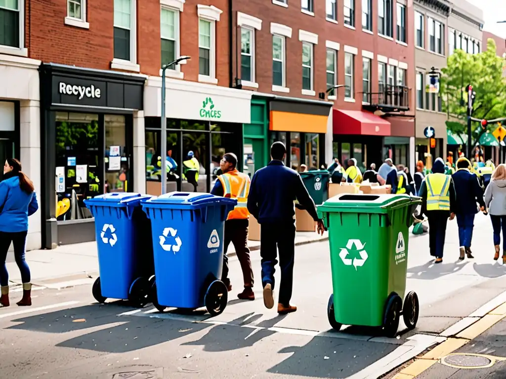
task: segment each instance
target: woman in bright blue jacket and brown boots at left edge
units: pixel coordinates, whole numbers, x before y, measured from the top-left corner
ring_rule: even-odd
[[[9,304],[9,273],[5,261],[7,251],[14,245],[14,257],[21,271],[23,298],[19,306],[31,305],[30,269],[25,261],[28,216],[38,209],[31,180],[21,171],[21,163],[8,158],[4,165],[4,179],[0,182],[0,307]]]

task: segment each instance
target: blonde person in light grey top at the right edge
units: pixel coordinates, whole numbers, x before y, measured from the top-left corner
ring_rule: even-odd
[[[502,230],[502,263],[506,264],[506,166],[498,165],[485,189],[485,207],[494,230],[494,260],[499,259]]]

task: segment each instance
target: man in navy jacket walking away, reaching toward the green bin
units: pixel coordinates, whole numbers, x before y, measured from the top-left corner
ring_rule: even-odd
[[[293,258],[295,252],[295,206],[298,200],[302,208],[318,222],[318,232],[323,234],[323,222],[318,219],[316,206],[295,170],[283,164],[286,148],[283,143],[271,146],[272,161],[261,168],[251,179],[247,208],[261,225],[262,286],[264,304],[274,307],[274,266],[279,250],[281,283],[279,285],[278,313],[295,312],[290,305],[293,284]]]

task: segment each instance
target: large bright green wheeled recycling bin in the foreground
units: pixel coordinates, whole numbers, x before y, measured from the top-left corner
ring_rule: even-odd
[[[408,229],[421,203],[408,195],[341,194],[318,206],[328,229],[333,293],[330,325],[381,327],[395,337],[400,316],[418,321],[418,297],[406,290]]]

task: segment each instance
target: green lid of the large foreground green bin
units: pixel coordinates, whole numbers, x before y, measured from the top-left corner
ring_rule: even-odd
[[[347,212],[347,213],[387,213],[394,208],[420,203],[421,198],[410,197],[409,195],[387,195],[387,194],[340,194],[328,199],[319,205],[320,212]]]

